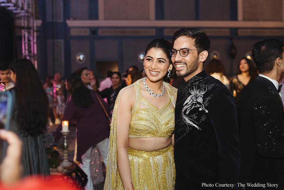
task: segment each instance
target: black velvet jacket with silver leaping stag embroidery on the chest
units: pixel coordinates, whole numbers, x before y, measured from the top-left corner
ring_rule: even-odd
[[[213,189],[218,189],[215,183],[237,185],[240,146],[233,95],[205,70],[178,90],[174,154],[175,189],[204,189],[202,183],[214,184]]]

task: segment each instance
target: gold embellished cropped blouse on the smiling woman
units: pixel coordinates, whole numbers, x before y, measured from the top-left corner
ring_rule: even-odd
[[[171,103],[175,106],[173,93],[175,89],[164,82],[169,92],[169,100],[161,109],[150,104],[141,95],[139,83],[134,86],[136,92],[136,102],[131,110],[131,120],[129,127],[129,138],[164,137],[171,138],[175,129],[175,109],[171,109]],[[174,92],[172,92],[172,89]],[[139,108],[140,103],[147,108]]]

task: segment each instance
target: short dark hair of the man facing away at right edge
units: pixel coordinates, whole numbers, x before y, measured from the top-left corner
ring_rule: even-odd
[[[283,59],[284,42],[280,39],[264,39],[256,42],[252,49],[252,58],[260,73],[269,73],[277,58]]]

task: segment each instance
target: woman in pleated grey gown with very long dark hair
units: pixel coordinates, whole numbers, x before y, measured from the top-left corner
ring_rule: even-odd
[[[48,98],[38,72],[28,59],[18,59],[10,65],[15,87],[10,130],[23,141],[21,164],[23,176],[50,174],[42,139],[48,118]]]

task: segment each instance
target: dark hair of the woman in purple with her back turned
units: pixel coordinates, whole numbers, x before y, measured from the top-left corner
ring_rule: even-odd
[[[81,77],[77,74],[67,76],[68,93],[72,95],[77,106],[87,108],[91,106],[93,99],[91,91],[84,85]]]

